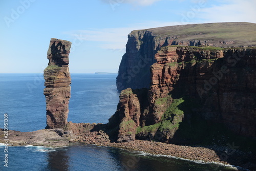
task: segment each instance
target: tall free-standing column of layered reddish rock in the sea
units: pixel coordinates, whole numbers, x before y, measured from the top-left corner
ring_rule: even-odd
[[[64,128],[68,123],[70,99],[69,53],[71,42],[51,38],[44,71],[46,96],[46,129]]]

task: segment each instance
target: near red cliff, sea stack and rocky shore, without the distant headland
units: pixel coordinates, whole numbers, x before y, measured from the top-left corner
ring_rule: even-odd
[[[67,121],[70,48],[69,41],[50,41],[44,72],[46,129],[9,130],[7,142],[0,129],[0,143],[63,147],[79,142],[256,170],[255,48],[161,48],[155,55],[157,62],[151,66],[150,89],[123,90],[117,111],[107,124]],[[230,66],[230,60],[234,66]],[[218,80],[216,73],[221,75]],[[215,83],[206,91],[204,82],[213,79]],[[244,137],[238,139],[238,135]],[[220,137],[231,137],[224,138],[225,143],[236,140],[243,149],[234,143],[221,146],[219,141],[213,142]]]

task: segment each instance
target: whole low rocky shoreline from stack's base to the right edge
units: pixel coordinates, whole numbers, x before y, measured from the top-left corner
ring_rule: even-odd
[[[9,146],[35,145],[46,147],[68,146],[69,143],[82,142],[100,146],[110,146],[126,149],[127,151],[146,152],[153,155],[166,155],[202,162],[231,164],[249,170],[256,170],[256,157],[250,153],[239,151],[232,146],[190,146],[175,145],[157,141],[135,140],[130,142],[111,142],[104,130],[104,124],[72,123],[69,127],[75,130],[62,129],[38,130],[35,132],[9,131]],[[83,130],[83,132],[80,132]],[[4,131],[0,131],[0,143]],[[238,167],[238,168],[239,168]]]

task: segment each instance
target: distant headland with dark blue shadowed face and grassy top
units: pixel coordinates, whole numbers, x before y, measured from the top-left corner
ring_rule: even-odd
[[[251,36],[255,33],[256,24],[252,23],[194,24],[132,31],[119,66],[117,89],[149,88],[150,67],[156,62],[155,54],[161,47],[251,47],[256,46],[256,38]]]

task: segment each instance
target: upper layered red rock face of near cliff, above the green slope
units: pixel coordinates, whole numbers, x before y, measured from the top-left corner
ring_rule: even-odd
[[[193,109],[203,119],[256,137],[256,49],[166,47],[156,59],[148,95],[152,104],[170,94],[193,99],[200,104]]]

